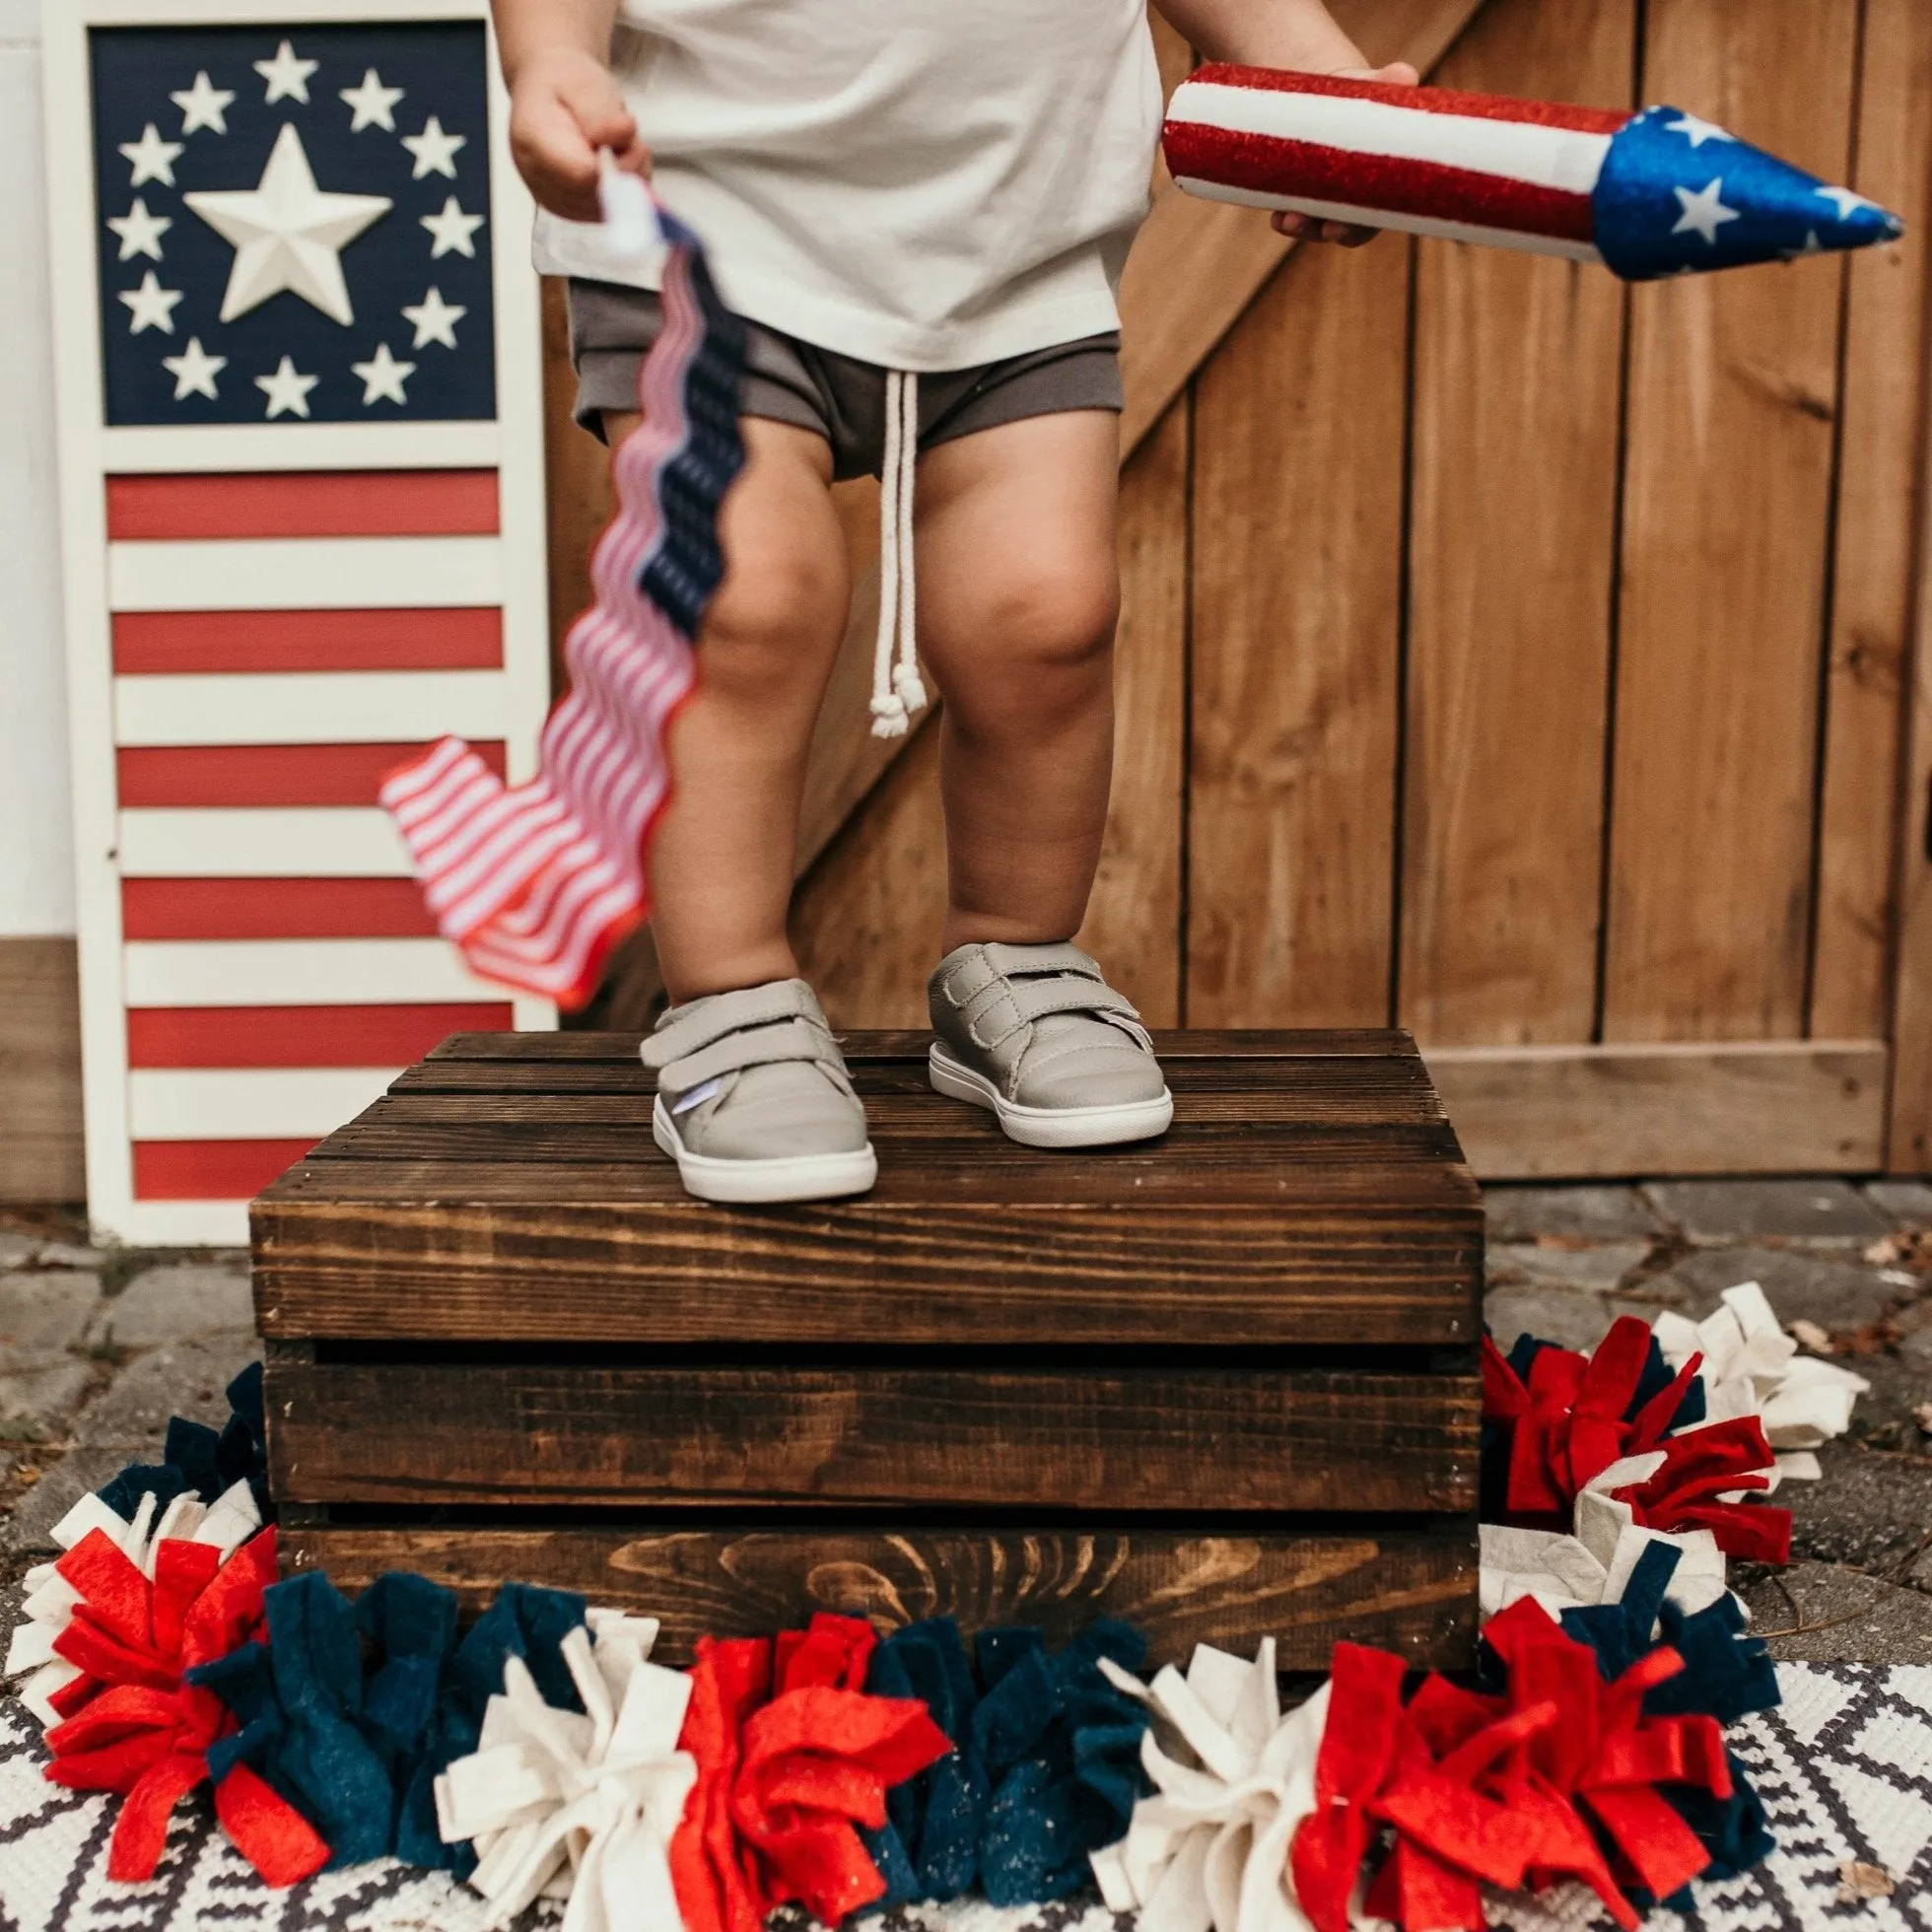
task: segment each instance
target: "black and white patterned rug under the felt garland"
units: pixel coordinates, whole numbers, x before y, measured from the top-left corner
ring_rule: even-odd
[[[1646,1932],[1932,1932],[1932,1667],[1781,1663],[1777,1677],[1783,1706],[1731,1731],[1777,1851],[1743,1878],[1698,1886],[1696,1911],[1654,1913]],[[151,1882],[108,1884],[112,1801],[50,1785],[44,1762],[33,1718],[0,1704],[0,1932],[483,1932],[483,1905],[464,1886],[392,1862],[269,1891],[207,1806],[180,1808]],[[1609,1928],[1575,1886],[1538,1901],[1497,1895],[1490,1913],[1509,1932]],[[790,1932],[804,1924],[788,1918]],[[1080,1899],[1012,1911],[970,1901],[864,1928],[1132,1932],[1132,1918]]]

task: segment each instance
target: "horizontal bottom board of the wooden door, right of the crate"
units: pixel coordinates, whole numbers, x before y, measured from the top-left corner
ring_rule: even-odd
[[[1422,1051],[1484,1180],[1884,1165],[1882,1039]]]

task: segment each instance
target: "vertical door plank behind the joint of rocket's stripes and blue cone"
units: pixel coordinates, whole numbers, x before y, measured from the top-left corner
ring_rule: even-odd
[[[1634,0],[1497,0],[1445,87],[1629,104]],[[1623,290],[1416,265],[1399,1012],[1434,1043],[1596,1024]]]

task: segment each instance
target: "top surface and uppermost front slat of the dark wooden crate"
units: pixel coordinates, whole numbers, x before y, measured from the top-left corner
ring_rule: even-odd
[[[649,1142],[641,1066],[597,1057],[609,1036],[439,1055],[257,1200],[261,1327],[605,1343],[1474,1339],[1482,1208],[1406,1036],[1318,1036],[1310,1053],[1281,1037],[1271,1055],[1163,1039],[1177,1049],[1173,1130],[1041,1161],[935,1097],[906,1036],[856,1036],[877,1188],[765,1209],[682,1194]],[[466,1078],[466,1065],[483,1072]],[[585,1068],[597,1092],[576,1090]]]

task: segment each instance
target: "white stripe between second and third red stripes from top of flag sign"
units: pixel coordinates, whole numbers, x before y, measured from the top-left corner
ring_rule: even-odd
[[[500,670],[247,670],[114,680],[116,744],[425,744],[502,738]]]

